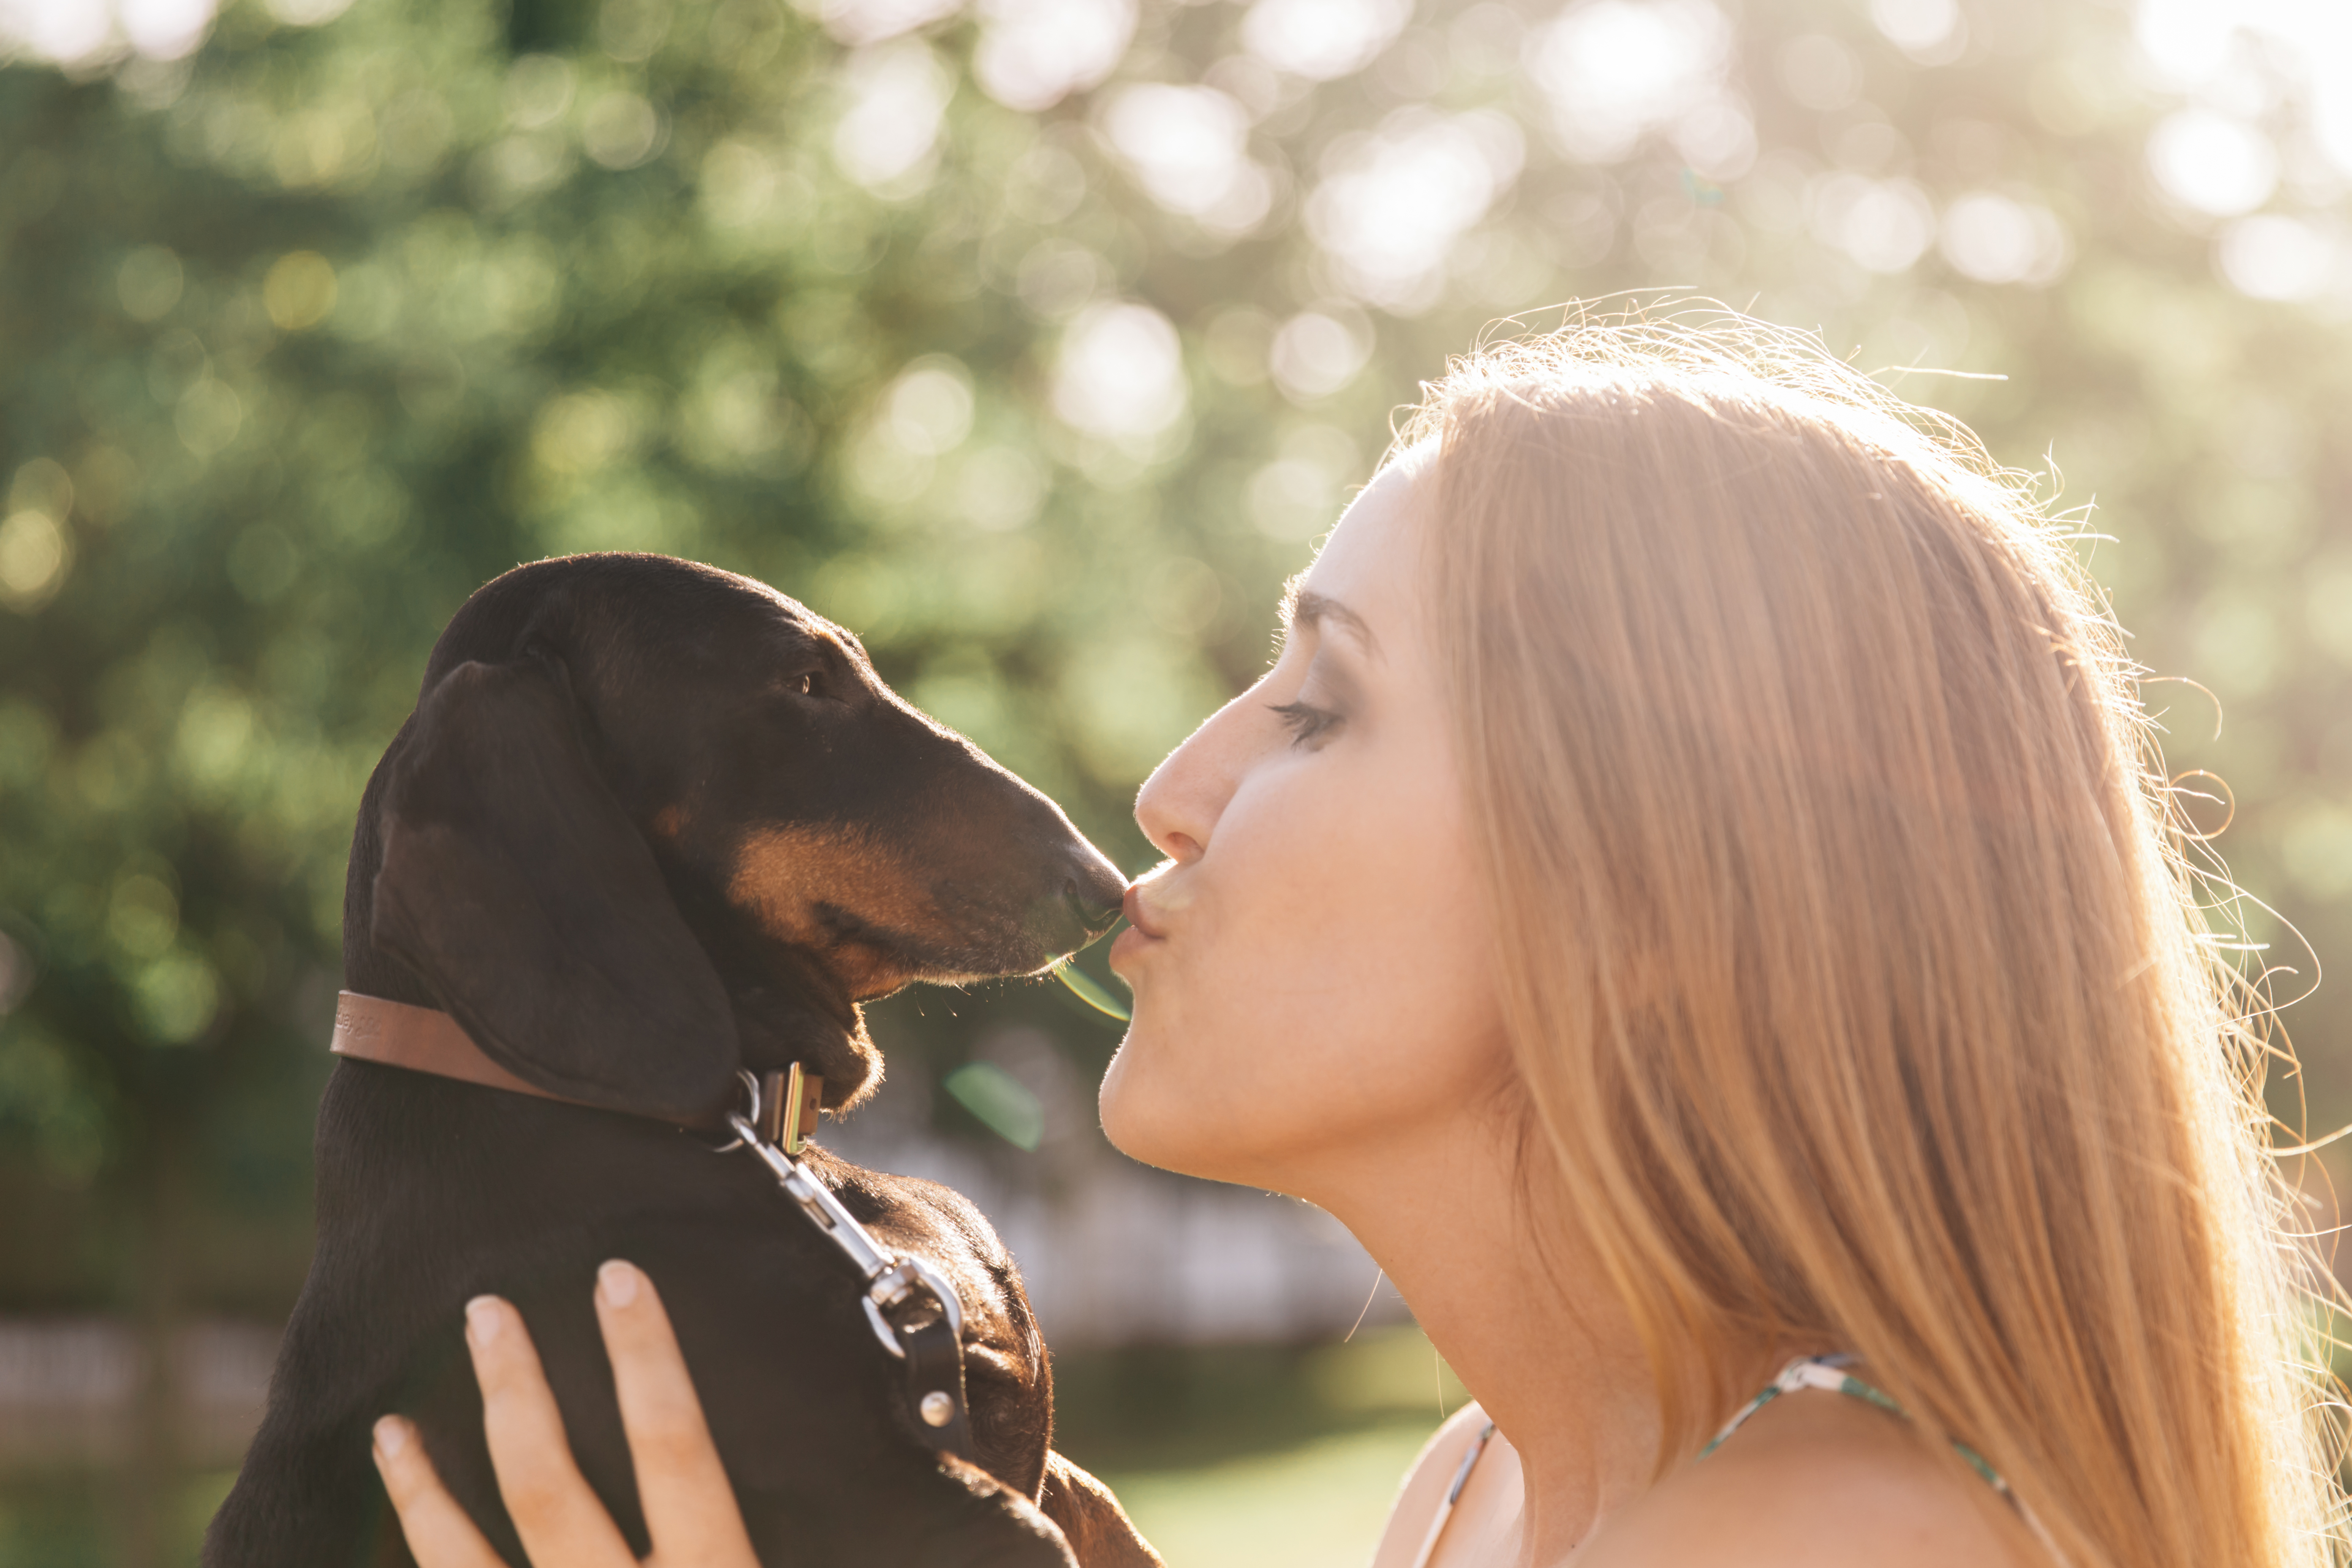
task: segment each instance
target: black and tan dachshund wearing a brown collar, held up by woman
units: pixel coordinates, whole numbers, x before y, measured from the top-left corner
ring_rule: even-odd
[[[207,1568],[412,1563],[369,1462],[393,1410],[520,1568],[463,1347],[480,1293],[527,1316],[579,1467],[644,1554],[590,1307],[604,1258],[659,1284],[769,1568],[1157,1563],[1049,1450],[1047,1352],[971,1204],[804,1154],[955,1286],[967,1465],[920,1441],[856,1269],[694,1131],[739,1072],[788,1063],[856,1105],[882,1065],[861,1001],[1037,971],[1101,936],[1122,889],[1049,799],[762,583],[581,555],[485,585],[360,802],[343,985],[452,1016],[541,1093],[336,1065],[318,1255]]]

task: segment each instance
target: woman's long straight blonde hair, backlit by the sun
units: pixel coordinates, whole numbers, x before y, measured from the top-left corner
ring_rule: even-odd
[[[1531,1171],[1661,1469],[1837,1347],[2074,1568],[2333,1561],[2265,1041],[2065,527],[1731,313],[1482,348],[1430,442]]]

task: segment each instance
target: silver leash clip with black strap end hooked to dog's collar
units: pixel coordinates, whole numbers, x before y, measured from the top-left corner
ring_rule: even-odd
[[[776,1098],[774,1088],[762,1095],[760,1081],[748,1072],[743,1084],[750,1088],[750,1114],[727,1114],[727,1126],[736,1135],[736,1143],[727,1147],[746,1147],[757,1154],[783,1194],[800,1206],[800,1213],[858,1269],[866,1281],[861,1298],[866,1319],[873,1324],[875,1338],[882,1340],[882,1349],[906,1363],[906,1408],[915,1436],[929,1448],[976,1465],[969,1406],[964,1403],[964,1307],[955,1298],[955,1286],[922,1258],[894,1253],[875,1241],[873,1232],[858,1225],[856,1215],[842,1208],[842,1201],[804,1164],[793,1159],[800,1138],[762,1138],[762,1128],[769,1124],[776,1124],[779,1131],[797,1126],[800,1107],[795,1105],[783,1119],[762,1117],[760,1103]],[[720,1152],[724,1154],[724,1150]]]

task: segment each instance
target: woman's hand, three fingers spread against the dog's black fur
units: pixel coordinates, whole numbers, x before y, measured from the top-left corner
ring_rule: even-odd
[[[621,1394],[644,1528],[654,1537],[644,1561],[656,1568],[760,1568],[654,1281],[628,1262],[607,1262],[597,1269],[595,1314]],[[522,1314],[496,1295],[475,1298],[466,1305],[466,1347],[482,1385],[482,1429],[499,1495],[529,1559],[635,1568],[628,1540],[572,1462]],[[376,1422],[376,1469],[419,1568],[501,1568],[482,1530],[442,1488],[414,1425],[397,1415]]]

